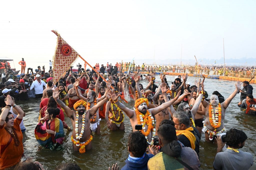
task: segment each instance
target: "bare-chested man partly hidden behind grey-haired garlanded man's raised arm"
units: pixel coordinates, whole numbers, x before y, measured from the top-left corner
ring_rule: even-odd
[[[196,89],[192,90],[192,95],[193,95],[193,98],[190,99],[190,102],[188,104],[189,107],[190,107],[190,110],[192,110],[192,108],[194,107],[196,99],[197,99],[197,90]],[[200,103],[199,107],[198,107],[198,110],[196,112],[196,115],[195,115],[196,129],[199,131],[200,134],[202,133],[202,128],[203,128],[203,125],[204,125],[203,124],[204,117],[205,117],[205,108],[202,105],[202,103]]]

